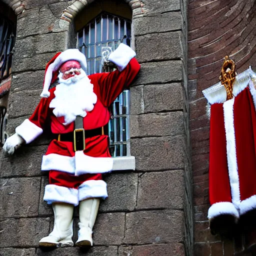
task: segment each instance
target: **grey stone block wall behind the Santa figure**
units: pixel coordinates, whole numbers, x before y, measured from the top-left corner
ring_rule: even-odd
[[[75,31],[69,21],[79,12],[73,9],[88,2],[91,1],[22,1],[24,11],[17,19],[9,97],[9,133],[38,103],[46,62],[56,51],[75,46]],[[109,198],[100,204],[94,246],[86,255],[191,255],[190,151],[183,53],[186,2],[126,2],[133,11],[133,45],[141,63],[141,71],[130,88],[131,154],[136,157],[136,170],[104,176]],[[60,19],[69,5],[72,7]],[[47,176],[40,172],[41,155],[48,141],[44,136],[13,156],[1,155],[0,255],[44,254],[37,247],[38,240],[53,225],[51,207],[42,200]],[[77,213],[75,216],[76,233]],[[58,248],[47,255],[83,253],[74,247]]]

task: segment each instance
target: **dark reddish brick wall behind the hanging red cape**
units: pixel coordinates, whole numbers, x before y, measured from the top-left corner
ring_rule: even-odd
[[[210,234],[207,220],[209,120],[201,90],[218,82],[223,57],[229,54],[238,72],[256,68],[254,0],[188,2],[188,88],[192,147],[194,254],[233,255],[243,252],[248,234],[231,239]],[[254,236],[256,237],[256,236]],[[248,254],[250,255],[250,254]]]

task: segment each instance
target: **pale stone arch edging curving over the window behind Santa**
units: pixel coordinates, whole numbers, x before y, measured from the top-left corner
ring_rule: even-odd
[[[69,5],[62,13],[61,19],[64,19],[68,22],[72,22],[75,16],[88,4],[92,3],[94,0],[76,0],[74,3]],[[142,0],[124,0],[129,4],[132,9],[133,16],[141,15],[146,12],[144,3]]]

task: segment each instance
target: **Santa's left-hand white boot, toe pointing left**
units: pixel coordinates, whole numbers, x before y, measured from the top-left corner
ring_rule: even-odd
[[[73,208],[69,203],[53,203],[54,227],[52,232],[39,241],[39,246],[73,246]]]

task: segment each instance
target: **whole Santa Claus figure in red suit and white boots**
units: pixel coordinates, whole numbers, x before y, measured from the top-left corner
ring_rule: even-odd
[[[73,208],[79,204],[78,246],[92,245],[92,227],[99,199],[107,197],[102,173],[111,171],[108,107],[139,71],[135,52],[121,43],[110,55],[118,70],[86,75],[86,58],[78,49],[57,53],[46,65],[42,99],[33,114],[16,127],[4,143],[11,154],[39,136],[46,122],[55,134],[41,170],[49,171],[43,199],[52,204],[54,227],[40,246],[72,246]],[[49,86],[58,78],[58,84]]]

